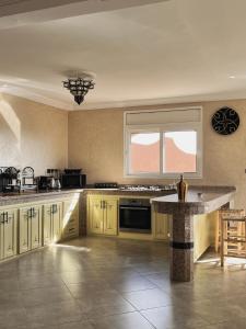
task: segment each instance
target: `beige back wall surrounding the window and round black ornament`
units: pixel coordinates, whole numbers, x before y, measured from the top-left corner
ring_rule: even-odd
[[[201,102],[203,106],[203,179],[189,183],[235,185],[236,206],[246,207],[246,101]],[[238,131],[220,136],[211,128],[211,116],[221,106],[234,107],[241,116]],[[139,107],[139,109],[150,109]],[[125,109],[129,110],[129,109]],[[83,168],[89,183],[165,183],[164,180],[124,179],[124,111],[98,110],[69,113],[69,166]],[[136,110],[136,109],[132,109]]]

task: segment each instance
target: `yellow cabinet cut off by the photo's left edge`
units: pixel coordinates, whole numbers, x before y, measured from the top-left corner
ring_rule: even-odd
[[[16,254],[17,209],[0,211],[0,259]]]

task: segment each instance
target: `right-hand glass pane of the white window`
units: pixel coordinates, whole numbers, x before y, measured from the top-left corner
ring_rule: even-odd
[[[163,135],[163,171],[197,171],[197,133],[171,132]]]

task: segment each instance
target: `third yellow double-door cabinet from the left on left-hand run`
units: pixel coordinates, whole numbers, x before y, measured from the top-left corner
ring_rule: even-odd
[[[44,205],[44,245],[57,242],[61,239],[61,202]]]

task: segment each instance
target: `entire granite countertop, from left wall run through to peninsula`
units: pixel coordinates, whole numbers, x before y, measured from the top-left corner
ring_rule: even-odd
[[[83,194],[106,194],[106,195],[129,195],[129,196],[149,196],[151,202],[159,208],[165,208],[167,213],[173,213],[174,208],[189,211],[191,213],[208,213],[211,208],[218,208],[220,203],[232,197],[236,191],[233,186],[189,186],[186,202],[179,202],[175,190],[161,191],[136,191],[121,189],[69,189],[59,191],[26,191],[22,193],[1,193],[0,206],[17,204],[25,202],[35,202],[37,200],[58,198],[71,196],[74,193]]]

